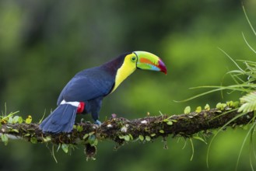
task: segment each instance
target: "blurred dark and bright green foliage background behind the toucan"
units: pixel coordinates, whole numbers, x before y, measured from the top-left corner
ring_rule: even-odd
[[[256,2],[244,0],[244,7],[256,28]],[[0,1],[0,112],[19,110],[37,122],[56,106],[58,94],[76,72],[101,65],[127,51],[149,51],[167,65],[168,74],[137,71],[103,100],[100,120],[117,117],[135,119],[160,113],[183,113],[184,107],[216,106],[238,100],[240,93],[212,93],[185,103],[206,89],[195,86],[233,84],[226,72],[236,66],[233,59],[255,61],[256,40],[241,1]],[[240,66],[244,66],[241,62]],[[226,75],[226,76],[225,76]],[[224,79],[223,79],[224,78]],[[90,116],[82,116],[91,120]],[[82,117],[78,117],[79,121]],[[167,138],[153,143],[129,143],[114,151],[114,143],[102,141],[95,161],[86,162],[83,147],[67,155],[51,145],[26,141],[0,144],[0,170],[234,170],[247,134],[240,128],[221,132],[209,145]],[[209,138],[210,141],[210,138]],[[56,147],[55,147],[56,150]],[[251,169],[249,141],[245,142],[237,170]]]

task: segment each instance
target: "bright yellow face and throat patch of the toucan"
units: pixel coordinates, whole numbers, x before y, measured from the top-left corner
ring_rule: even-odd
[[[134,58],[135,58],[135,61],[132,60]],[[135,56],[135,54],[128,54],[124,58],[124,63],[117,70],[114,88],[112,89],[112,91],[110,93],[114,92],[114,90],[117,89],[117,87],[121,84],[121,82],[123,82],[124,79],[126,79],[129,75],[131,75],[132,72],[135,72],[136,62],[137,62],[137,57]]]

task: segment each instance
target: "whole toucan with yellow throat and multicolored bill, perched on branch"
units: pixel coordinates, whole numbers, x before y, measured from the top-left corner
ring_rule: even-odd
[[[82,70],[62,89],[57,108],[42,121],[40,130],[56,134],[71,132],[76,113],[91,113],[95,124],[100,125],[103,98],[114,92],[136,68],[167,74],[163,61],[146,51],[124,53],[103,65]]]

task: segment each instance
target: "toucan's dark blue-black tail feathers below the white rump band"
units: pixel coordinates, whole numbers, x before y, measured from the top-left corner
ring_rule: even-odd
[[[43,132],[71,132],[75,124],[76,111],[77,106],[61,104],[43,120],[39,128]]]

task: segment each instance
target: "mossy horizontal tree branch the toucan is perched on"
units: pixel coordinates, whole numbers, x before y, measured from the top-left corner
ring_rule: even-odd
[[[43,133],[38,128],[38,124],[4,124],[0,129],[2,141],[5,138],[22,138],[33,143],[45,142],[56,145],[86,145],[86,154],[96,153],[98,140],[110,139],[118,145],[125,141],[139,139],[140,141],[151,141],[159,137],[167,137],[172,134],[189,138],[200,131],[241,124],[250,124],[254,118],[254,113],[242,114],[237,109],[229,106],[222,110],[214,108],[202,110],[201,112],[191,112],[179,115],[161,115],[156,117],[144,117],[135,120],[125,118],[110,118],[99,126],[90,123],[75,124],[71,133],[50,134]],[[5,135],[3,137],[3,135]],[[91,152],[92,151],[92,152]],[[93,156],[92,155],[92,156]]]

